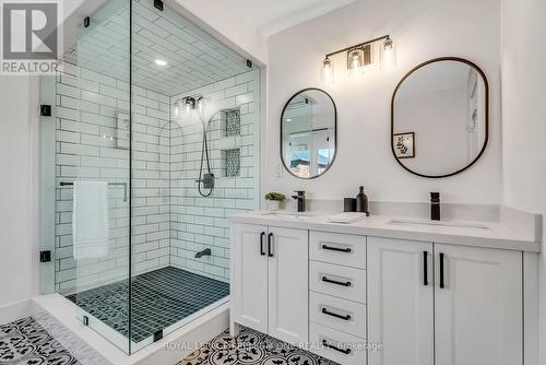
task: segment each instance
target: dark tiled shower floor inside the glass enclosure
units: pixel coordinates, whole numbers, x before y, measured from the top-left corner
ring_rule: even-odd
[[[131,339],[140,342],[228,296],[229,284],[168,267],[134,276],[131,291]],[[68,298],[128,337],[128,281],[120,281]]]

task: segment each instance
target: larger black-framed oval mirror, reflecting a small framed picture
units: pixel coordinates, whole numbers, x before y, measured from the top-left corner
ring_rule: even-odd
[[[489,86],[473,62],[442,57],[400,81],[391,102],[391,149],[412,174],[440,178],[471,167],[489,138]]]

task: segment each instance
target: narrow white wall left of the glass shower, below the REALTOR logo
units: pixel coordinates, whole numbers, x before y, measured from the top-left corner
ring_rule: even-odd
[[[0,306],[37,292],[35,80],[0,76]]]

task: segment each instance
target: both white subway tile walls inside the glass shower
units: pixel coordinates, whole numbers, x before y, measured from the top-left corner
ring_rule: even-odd
[[[257,160],[259,71],[177,96],[133,86],[132,263],[133,274],[174,266],[210,278],[229,280],[229,232],[226,217],[258,208]],[[75,263],[72,256],[72,187],[75,179],[129,181],[129,150],[118,119],[128,118],[129,84],[67,64],[57,76],[56,138],[56,289],[60,293],[127,279],[129,203],[123,188],[109,188],[110,240],[104,259]],[[198,195],[202,127],[170,122],[174,103],[202,95],[217,111],[207,137],[216,188]],[[240,136],[226,137],[219,110],[239,108]],[[124,144],[127,148],[127,144]],[[226,177],[225,151],[240,150],[239,176]],[[212,256],[195,259],[211,248]]]

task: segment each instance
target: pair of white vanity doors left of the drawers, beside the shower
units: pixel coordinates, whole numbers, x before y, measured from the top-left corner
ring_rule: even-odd
[[[308,341],[308,231],[233,225],[233,320],[288,343]]]

